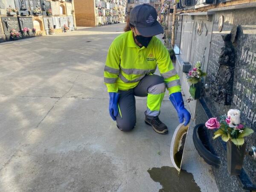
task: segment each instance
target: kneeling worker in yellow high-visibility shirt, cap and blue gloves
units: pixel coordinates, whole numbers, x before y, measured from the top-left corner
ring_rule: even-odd
[[[131,131],[136,124],[135,97],[147,96],[145,123],[159,134],[168,133],[158,115],[165,90],[178,113],[180,123],[190,121],[180,93],[180,80],[169,52],[155,37],[163,33],[153,6],[141,4],[131,10],[125,33],[109,47],[104,69],[104,83],[109,92],[109,112],[121,131]],[[161,76],[154,75],[156,67]]]

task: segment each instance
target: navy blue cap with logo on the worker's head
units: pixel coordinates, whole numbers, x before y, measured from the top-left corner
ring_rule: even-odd
[[[157,21],[157,11],[149,4],[143,3],[135,6],[130,12],[130,23],[144,37],[163,33],[163,27]]]

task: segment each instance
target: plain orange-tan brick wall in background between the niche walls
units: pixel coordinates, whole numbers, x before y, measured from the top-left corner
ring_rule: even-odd
[[[95,26],[94,0],[74,0],[76,26]]]

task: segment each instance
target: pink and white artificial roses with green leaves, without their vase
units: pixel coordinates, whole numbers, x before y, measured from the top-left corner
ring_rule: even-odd
[[[224,142],[230,141],[236,146],[243,145],[244,137],[253,133],[252,129],[240,123],[240,111],[236,109],[230,109],[227,115],[220,117],[220,121],[217,118],[210,118],[205,126],[217,130],[213,139],[221,137]]]

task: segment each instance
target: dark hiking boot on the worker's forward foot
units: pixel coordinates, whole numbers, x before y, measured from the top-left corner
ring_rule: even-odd
[[[145,117],[145,123],[147,125],[151,125],[154,131],[156,131],[159,134],[167,134],[168,129],[167,126],[160,121],[158,116],[148,116]]]

